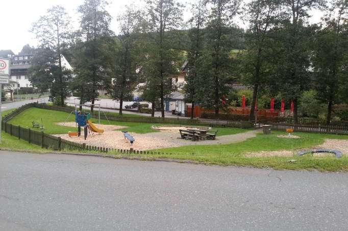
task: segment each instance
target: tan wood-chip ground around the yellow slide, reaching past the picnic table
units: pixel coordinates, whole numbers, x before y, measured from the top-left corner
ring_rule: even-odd
[[[59,125],[62,125],[59,124]],[[243,142],[248,138],[255,137],[257,131],[248,131],[245,133],[235,134],[235,135],[227,135],[227,136],[219,136],[216,137],[215,140],[200,140],[200,141],[191,141],[184,140],[180,138],[179,131],[159,131],[153,133],[146,134],[137,134],[129,132],[135,139],[133,145],[126,140],[121,131],[114,131],[116,129],[122,129],[126,127],[124,126],[114,126],[114,125],[102,125],[95,124],[98,128],[104,129],[104,133],[96,134],[90,133],[86,140],[84,140],[83,136],[71,136],[69,137],[67,134],[55,135],[59,136],[62,139],[77,142],[77,143],[86,143],[86,145],[91,146],[100,146],[100,147],[110,147],[116,149],[129,149],[133,148],[134,150],[150,150],[150,149],[158,149],[165,147],[180,147],[185,145],[209,145],[209,144],[229,144],[229,143],[237,143]],[[65,123],[65,126],[76,126],[74,122]]]

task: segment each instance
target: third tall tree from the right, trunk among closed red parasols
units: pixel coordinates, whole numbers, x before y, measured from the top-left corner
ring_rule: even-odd
[[[272,33],[278,29],[283,14],[280,0],[254,0],[246,5],[244,12],[250,25],[245,34],[242,71],[246,82],[253,86],[249,115],[249,120],[253,120],[259,87],[265,87],[264,79],[270,74],[270,49],[274,45]]]

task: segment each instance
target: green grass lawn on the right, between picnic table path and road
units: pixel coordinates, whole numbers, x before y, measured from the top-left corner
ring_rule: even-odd
[[[348,171],[348,157],[336,159],[333,156],[316,158],[311,155],[296,156],[296,150],[322,144],[325,139],[348,139],[348,136],[296,133],[300,139],[279,138],[285,132],[272,132],[272,135],[258,134],[255,138],[241,143],[223,145],[194,145],[163,148],[154,151],[172,153],[162,158],[193,160],[207,164],[272,167],[275,169],[318,169]],[[245,153],[259,151],[292,150],[293,157],[245,157]],[[297,162],[289,163],[290,159]]]

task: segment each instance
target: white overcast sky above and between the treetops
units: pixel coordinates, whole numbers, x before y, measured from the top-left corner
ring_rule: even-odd
[[[0,0],[1,7],[1,36],[0,50],[12,49],[17,54],[25,44],[36,46],[37,42],[34,35],[29,32],[31,24],[37,21],[40,15],[44,15],[46,10],[54,5],[62,5],[71,16],[73,24],[78,26],[79,14],[77,8],[83,3],[83,0]],[[135,6],[142,6],[141,0],[109,0],[108,11],[113,17],[112,30],[117,33],[118,27],[115,18],[122,12],[125,5],[134,3]],[[194,0],[180,0],[181,3],[194,2]],[[184,18],[189,18],[188,12],[183,12]],[[312,12],[312,22],[318,22],[322,13]],[[239,21],[241,27],[245,27]]]

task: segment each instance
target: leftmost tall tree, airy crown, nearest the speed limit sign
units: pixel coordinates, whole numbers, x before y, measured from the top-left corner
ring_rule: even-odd
[[[65,106],[64,98],[67,95],[67,83],[64,76],[64,67],[62,66],[61,50],[66,46],[67,39],[70,33],[70,17],[61,6],[54,6],[47,10],[47,14],[41,16],[40,19],[33,23],[31,32],[36,35],[40,42],[41,52],[37,54],[38,60],[35,63],[36,69],[45,67],[42,58],[47,59],[49,74],[55,80],[53,83],[47,83],[51,86],[51,99],[54,100],[60,97],[59,104]],[[40,57],[42,56],[42,57]],[[39,67],[38,65],[42,65]],[[33,76],[35,81],[36,76]],[[51,78],[50,78],[51,79]],[[42,81],[51,81],[50,79],[42,79]]]

